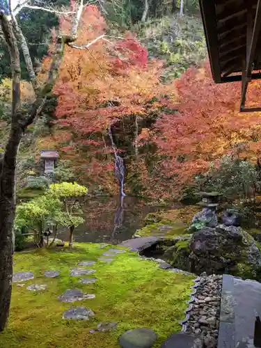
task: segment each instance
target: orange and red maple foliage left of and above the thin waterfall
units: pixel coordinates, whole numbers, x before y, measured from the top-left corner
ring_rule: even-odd
[[[104,35],[106,24],[96,6],[83,13],[76,45],[86,45]],[[61,30],[69,30],[68,21]],[[58,95],[57,127],[70,129],[67,143],[53,140],[63,157],[73,159],[74,169],[88,182],[98,182],[118,190],[113,174],[109,125],[125,116],[140,118],[155,113],[165,100],[151,102],[158,95],[173,98],[173,86],[160,82],[162,63],[151,61],[139,42],[127,33],[125,38],[100,38],[88,49],[67,47],[54,93]],[[49,57],[42,64],[39,78],[46,74]],[[56,137],[57,138],[57,137]],[[63,143],[63,144],[61,144]]]

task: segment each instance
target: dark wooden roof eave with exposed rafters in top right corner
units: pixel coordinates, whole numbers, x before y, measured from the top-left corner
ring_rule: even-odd
[[[261,0],[199,0],[212,76],[242,81],[243,111],[251,79],[261,79]]]

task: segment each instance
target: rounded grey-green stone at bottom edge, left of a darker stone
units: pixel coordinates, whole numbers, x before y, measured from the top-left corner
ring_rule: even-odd
[[[151,348],[157,340],[157,335],[150,329],[134,329],[120,336],[120,347],[122,348]],[[179,348],[181,348],[180,346]],[[183,347],[182,347],[183,348]]]

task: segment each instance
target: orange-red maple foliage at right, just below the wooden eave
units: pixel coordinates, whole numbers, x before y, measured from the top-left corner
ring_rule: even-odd
[[[200,70],[189,68],[175,86],[177,112],[161,114],[157,120],[160,135],[150,134],[157,143],[158,155],[164,157],[158,173],[173,193],[180,192],[194,175],[207,171],[211,161],[228,152],[243,155],[244,150],[244,157],[256,161],[261,113],[239,113],[240,83],[214,84],[206,64]],[[250,84],[248,104],[255,106],[260,101],[260,91],[259,84]]]

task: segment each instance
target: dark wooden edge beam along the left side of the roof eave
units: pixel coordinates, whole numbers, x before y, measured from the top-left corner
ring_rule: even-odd
[[[221,68],[219,64],[219,42],[216,30],[216,10],[214,0],[199,0],[200,12],[203,18],[207,51],[212,70],[212,77],[216,83],[221,82]]]

